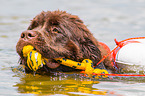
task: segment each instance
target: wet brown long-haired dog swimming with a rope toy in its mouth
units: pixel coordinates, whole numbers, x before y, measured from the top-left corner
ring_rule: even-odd
[[[67,58],[75,61],[91,59],[95,64],[106,54],[102,46],[93,37],[78,16],[65,11],[41,12],[31,22],[28,29],[22,32],[16,50],[20,55],[21,64],[26,65],[22,49],[32,45],[43,57],[47,58],[45,68],[41,71],[74,71],[73,68],[60,65],[54,58]],[[99,64],[99,68],[113,70],[109,59]]]

